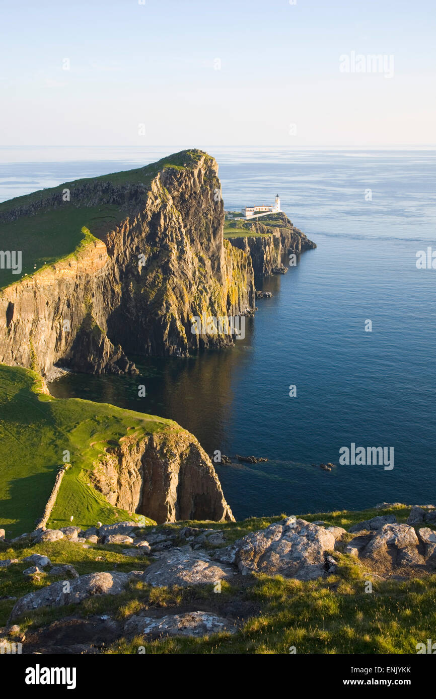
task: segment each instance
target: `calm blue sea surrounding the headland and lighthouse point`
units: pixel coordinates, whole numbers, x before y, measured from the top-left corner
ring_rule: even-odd
[[[0,149],[0,199],[176,150]],[[265,280],[274,297],[258,300],[234,349],[133,358],[141,380],[70,375],[50,390],[170,417],[209,454],[266,456],[217,466],[239,518],[435,503],[436,270],[417,270],[416,252],[436,250],[436,153],[207,150],[220,164],[225,208],[269,203],[279,192],[317,249]],[[137,397],[139,383],[146,398]],[[393,447],[393,470],[339,466],[351,442]],[[338,464],[330,473],[311,466],[327,461]]]

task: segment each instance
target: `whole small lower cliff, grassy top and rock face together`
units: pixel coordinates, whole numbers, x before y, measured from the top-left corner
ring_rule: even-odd
[[[8,531],[31,531],[41,514],[57,527],[73,515],[83,528],[139,515],[233,521],[209,456],[172,420],[58,400],[36,373],[4,364],[0,410],[0,524]]]

